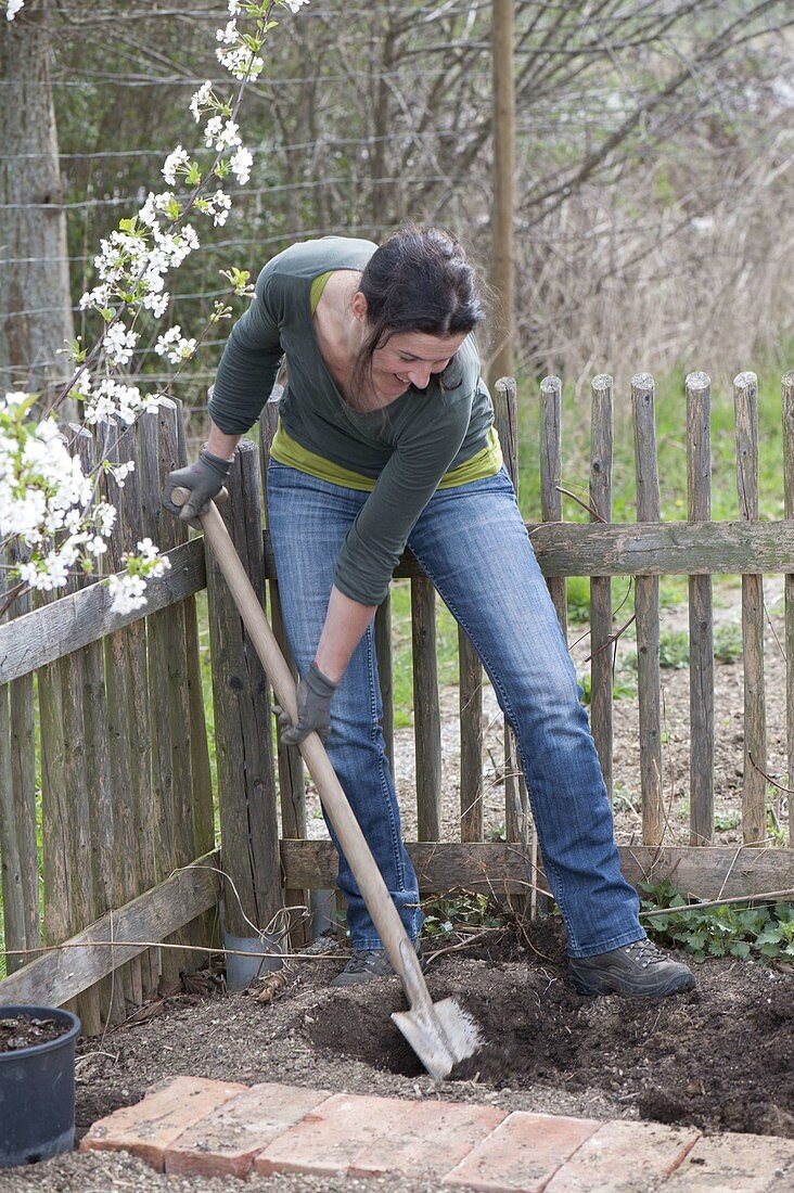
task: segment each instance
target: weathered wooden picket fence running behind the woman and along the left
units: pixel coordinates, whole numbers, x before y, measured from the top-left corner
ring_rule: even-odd
[[[786,653],[794,659],[794,373],[782,383],[784,519],[758,519],[758,410],[752,373],[734,383],[740,517],[710,521],[710,384],[690,373],[687,394],[688,511],[661,523],[654,432],[654,385],[632,382],[636,521],[610,521],[613,381],[591,387],[589,524],[562,521],[561,382],[540,387],[541,521],[529,525],[558,616],[565,628],[566,576],[591,577],[591,721],[608,786],[613,774],[614,633],[611,581],[635,577],[642,845],[622,847],[632,882],[672,876],[701,897],[794,888],[794,849],[762,846],[767,824],[762,575],[786,574]],[[509,469],[517,472],[516,388],[494,395]],[[266,447],[277,401],[260,420],[260,453],[240,445],[224,518],[277,636],[284,643],[267,531],[261,530]],[[203,539],[165,514],[165,475],[185,462],[181,418],[165,402],[136,428],[103,427],[92,452],[136,459],[118,489],[119,533],[109,570],[144,534],[168,551],[171,570],[154,581],[147,606],[110,612],[103,583],[79,585],[57,600],[0,625],[0,863],[8,976],[0,1002],[76,1000],[87,1033],[118,1021],[179,971],[202,959],[198,947],[226,929],[251,937],[309,891],[333,888],[328,841],[307,839],[300,753],[273,756],[271,693]],[[659,576],[689,576],[690,845],[665,845],[661,791]],[[712,576],[741,575],[744,643],[744,845],[714,846],[714,655]],[[460,837],[441,840],[442,746],[432,585],[406,552],[396,571],[410,577],[414,682],[417,836],[408,845],[421,890],[485,890],[527,900],[543,890],[527,790],[505,731],[505,841],[484,840],[482,673],[461,632]],[[207,589],[215,718],[216,789],[201,682],[196,595]],[[394,750],[389,599],[376,616],[376,647],[387,749]],[[38,717],[35,716],[36,706]],[[36,719],[38,733],[36,733]],[[789,778],[794,789],[794,668],[787,679]],[[41,784],[41,826],[37,787]],[[216,824],[221,848],[216,849]],[[41,853],[41,863],[39,863]],[[42,889],[43,888],[43,894]],[[222,901],[222,903],[221,903]],[[300,941],[303,925],[294,926]],[[68,945],[36,957],[41,941]],[[112,946],[111,944],[112,942]],[[170,946],[160,948],[160,944]]]

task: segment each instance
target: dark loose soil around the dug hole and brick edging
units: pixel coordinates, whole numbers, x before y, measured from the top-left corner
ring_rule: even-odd
[[[794,1138],[794,976],[788,972],[709,959],[696,966],[698,985],[688,994],[586,999],[566,982],[555,916],[463,938],[430,953],[427,982],[435,1001],[451,996],[475,1018],[485,1044],[455,1080],[436,1083],[389,1020],[404,1007],[399,981],[332,989],[328,981],[344,957],[334,940],[321,939],[304,959],[289,963],[285,983],[263,978],[246,994],[166,999],[135,1022],[81,1041],[78,1137],[97,1118],[137,1101],[155,1081],[192,1074]],[[215,988],[205,983],[208,991]],[[4,1193],[115,1185],[183,1187],[112,1154],[73,1154],[37,1166],[35,1174],[0,1175]],[[282,1176],[251,1187],[297,1193],[357,1186]],[[378,1189],[392,1187],[424,1188],[387,1181]],[[196,1179],[184,1188],[209,1193],[215,1186]]]

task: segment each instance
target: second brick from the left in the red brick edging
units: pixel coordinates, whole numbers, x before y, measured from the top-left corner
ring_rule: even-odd
[[[331,1094],[263,1082],[189,1127],[165,1154],[166,1173],[246,1176],[253,1157]]]

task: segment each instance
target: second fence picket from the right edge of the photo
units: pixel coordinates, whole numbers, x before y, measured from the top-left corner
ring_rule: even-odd
[[[739,517],[758,520],[758,382],[752,372],[733,379]],[[741,576],[744,645],[744,780],[741,833],[745,845],[767,835],[767,704],[764,696],[763,577]]]

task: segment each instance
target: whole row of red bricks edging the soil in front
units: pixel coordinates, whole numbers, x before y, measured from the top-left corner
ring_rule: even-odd
[[[665,1193],[794,1193],[789,1139],[204,1077],[171,1077],[94,1123],[80,1144],[91,1149],[204,1176],[402,1173],[482,1193],[617,1193],[638,1181]]]

